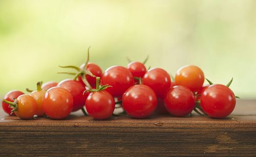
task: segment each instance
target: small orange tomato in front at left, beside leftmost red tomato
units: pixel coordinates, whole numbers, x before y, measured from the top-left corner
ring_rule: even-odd
[[[36,101],[28,94],[17,97],[17,107],[15,114],[20,119],[31,119],[36,113]]]

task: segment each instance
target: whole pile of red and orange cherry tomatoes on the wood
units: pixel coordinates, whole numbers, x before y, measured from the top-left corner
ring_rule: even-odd
[[[146,59],[147,60],[147,59]],[[170,114],[184,117],[194,110],[212,118],[228,116],[236,106],[237,96],[229,85],[203,86],[203,71],[194,65],[181,67],[175,78],[162,68],[146,68],[145,62],[130,62],[127,67],[112,66],[103,73],[89,62],[72,68],[74,75],[59,83],[37,83],[30,94],[13,90],[2,102],[9,115],[32,119],[35,115],[51,119],[64,119],[71,112],[82,110],[94,119],[110,118],[116,108],[133,118],[146,118],[152,114]],[[85,109],[84,109],[85,107]]]

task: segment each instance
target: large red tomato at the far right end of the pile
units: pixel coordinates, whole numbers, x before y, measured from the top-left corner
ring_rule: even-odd
[[[227,117],[235,106],[234,93],[224,85],[210,85],[201,95],[201,107],[212,118]]]

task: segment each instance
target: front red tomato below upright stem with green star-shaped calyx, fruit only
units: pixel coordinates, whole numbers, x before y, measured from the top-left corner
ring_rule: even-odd
[[[94,119],[107,119],[115,110],[114,98],[107,91],[92,92],[86,99],[86,110]]]

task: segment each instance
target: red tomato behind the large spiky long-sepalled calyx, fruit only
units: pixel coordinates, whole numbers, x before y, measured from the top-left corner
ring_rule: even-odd
[[[83,64],[80,66],[80,69],[83,69],[83,68],[84,68],[84,65],[85,65],[85,64],[83,63]],[[86,69],[89,70],[89,71],[91,71],[91,73],[92,73],[93,75],[95,75],[96,77],[101,77],[101,75],[102,75],[102,70],[101,70],[101,68],[100,68],[97,64],[88,63],[87,66],[86,66]],[[95,85],[96,85],[96,77],[92,77],[92,76],[90,76],[89,74],[86,75],[86,79],[87,79],[88,83],[89,83],[91,86],[93,86],[93,87],[95,87]],[[78,76],[78,80],[83,83],[83,81],[82,81],[82,79],[81,79],[81,76]],[[83,84],[84,84],[84,83],[83,83]]]

